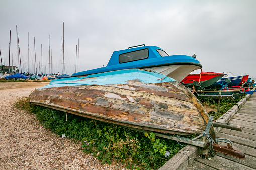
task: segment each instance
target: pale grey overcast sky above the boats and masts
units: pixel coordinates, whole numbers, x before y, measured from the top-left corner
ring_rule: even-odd
[[[22,71],[28,70],[29,44],[30,71],[34,72],[35,37],[37,63],[41,65],[42,44],[43,72],[46,68],[48,73],[50,35],[53,72],[61,73],[64,22],[65,71],[69,75],[75,72],[79,39],[80,71],[106,66],[113,51],[145,44],[158,46],[169,55],[196,54],[203,71],[256,77],[255,9],[255,0],[1,0],[0,50],[8,65],[11,30],[11,58],[18,65],[17,25]]]

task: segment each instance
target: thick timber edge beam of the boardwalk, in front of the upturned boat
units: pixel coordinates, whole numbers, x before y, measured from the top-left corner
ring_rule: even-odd
[[[198,147],[187,145],[172,157],[172,159],[160,167],[159,170],[185,169],[192,163],[199,153],[200,149]]]

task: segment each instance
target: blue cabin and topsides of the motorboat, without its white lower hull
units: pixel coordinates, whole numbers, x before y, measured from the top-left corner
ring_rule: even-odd
[[[114,51],[106,67],[73,73],[72,77],[131,68],[143,69],[177,64],[192,64],[202,67],[194,57],[187,55],[169,56],[160,47],[142,46]]]

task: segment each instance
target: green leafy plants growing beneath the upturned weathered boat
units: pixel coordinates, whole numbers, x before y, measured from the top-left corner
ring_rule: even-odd
[[[176,141],[156,137],[152,132],[140,133],[122,126],[35,106],[22,98],[15,107],[37,116],[45,128],[54,133],[82,142],[83,151],[91,153],[102,163],[125,163],[129,169],[158,169],[181,148]],[[165,158],[166,151],[169,156]]]

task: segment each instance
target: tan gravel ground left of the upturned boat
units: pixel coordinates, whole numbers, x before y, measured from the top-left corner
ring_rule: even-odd
[[[0,83],[0,169],[126,169],[123,164],[102,165],[82,152],[80,142],[53,134],[40,127],[35,115],[13,107],[48,83]]]

